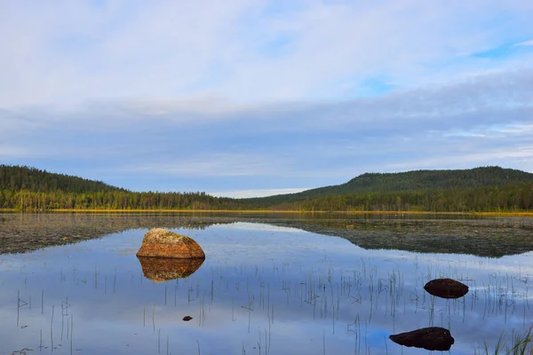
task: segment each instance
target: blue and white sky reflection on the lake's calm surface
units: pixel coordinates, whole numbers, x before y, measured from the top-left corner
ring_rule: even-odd
[[[147,280],[135,257],[146,229],[0,256],[0,353],[416,355],[425,352],[389,335],[444,327],[458,355],[480,353],[485,341],[493,348],[502,332],[509,343],[533,321],[531,253],[366,250],[253,222],[174,230],[198,241],[207,259],[164,282]],[[431,296],[423,286],[436,278],[470,292]]]

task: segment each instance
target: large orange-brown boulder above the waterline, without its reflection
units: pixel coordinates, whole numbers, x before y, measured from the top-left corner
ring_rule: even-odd
[[[192,238],[162,228],[145,234],[137,256],[205,259],[202,247]]]

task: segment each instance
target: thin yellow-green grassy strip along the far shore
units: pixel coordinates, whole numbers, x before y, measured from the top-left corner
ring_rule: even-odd
[[[0,212],[20,213],[18,209],[0,209]],[[432,211],[301,211],[277,209],[50,209],[47,211],[22,211],[21,213],[277,213],[277,214],[346,214],[346,215],[456,215],[486,217],[533,217],[525,212],[432,212]]]

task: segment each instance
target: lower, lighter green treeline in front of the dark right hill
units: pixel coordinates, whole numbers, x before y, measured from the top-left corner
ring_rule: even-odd
[[[260,205],[255,205],[259,207]],[[533,209],[533,183],[330,195],[270,209],[301,211],[518,212]]]

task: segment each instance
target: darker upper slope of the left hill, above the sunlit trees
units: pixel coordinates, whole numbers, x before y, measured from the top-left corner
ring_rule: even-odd
[[[56,174],[27,166],[0,165],[0,190],[51,193],[96,193],[125,191],[101,181]]]

